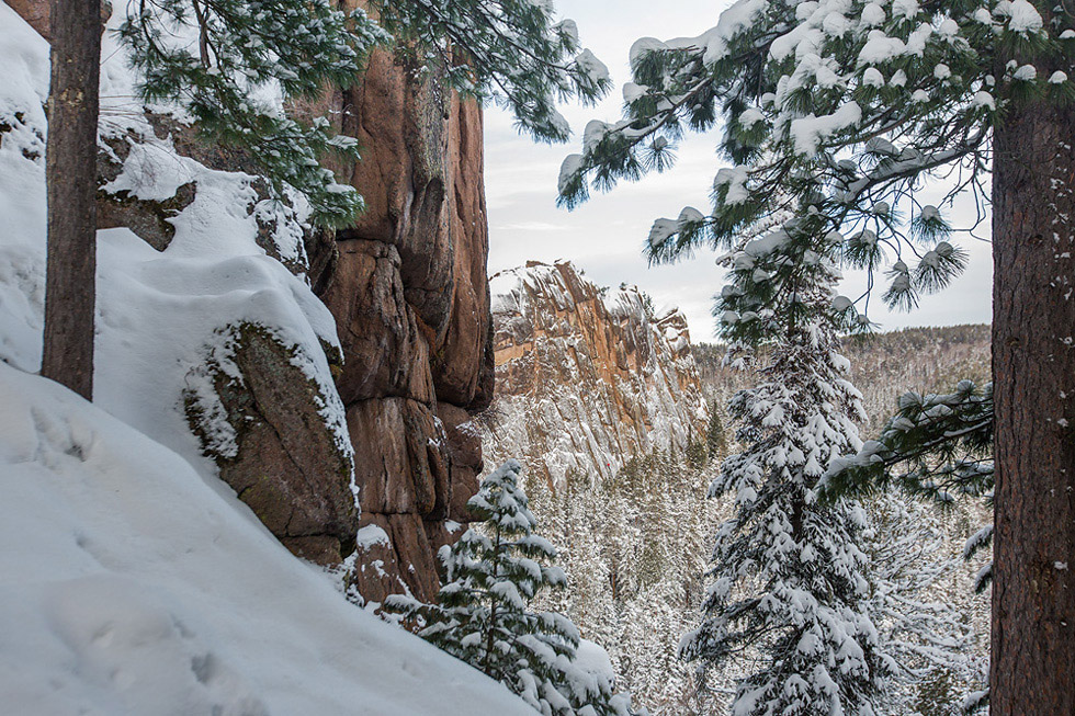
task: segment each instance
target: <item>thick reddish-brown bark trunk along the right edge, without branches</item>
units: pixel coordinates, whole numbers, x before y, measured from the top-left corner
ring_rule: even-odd
[[[1075,107],[995,132],[994,716],[1075,714]]]

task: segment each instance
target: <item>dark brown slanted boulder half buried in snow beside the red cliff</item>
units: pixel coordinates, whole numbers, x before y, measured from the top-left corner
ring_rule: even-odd
[[[326,424],[317,383],[295,365],[297,349],[260,326],[233,327],[228,343],[227,365],[214,356],[200,368],[223,416],[189,393],[192,430],[220,478],[285,546],[319,564],[339,564],[353,550],[359,525],[353,462]],[[231,427],[234,444],[214,441],[212,420],[219,417]]]

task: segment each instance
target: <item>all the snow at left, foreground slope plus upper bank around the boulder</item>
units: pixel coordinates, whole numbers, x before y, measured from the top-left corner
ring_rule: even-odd
[[[326,421],[346,435],[319,348],[335,325],[257,245],[256,214],[272,207],[257,203],[253,178],[180,157],[121,106],[131,77],[114,46],[104,57],[102,132],[140,137],[109,189],[197,191],[165,251],[125,228],[99,234],[90,405],[34,375],[48,46],[0,2],[0,714],[532,713],[347,602],[200,456],[182,391],[222,348],[219,329],[241,320],[297,348]],[[295,258],[298,215],[275,218],[276,248]]]

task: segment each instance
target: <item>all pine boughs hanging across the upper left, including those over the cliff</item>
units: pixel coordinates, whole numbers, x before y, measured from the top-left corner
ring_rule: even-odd
[[[346,226],[362,197],[319,163],[335,152],[359,159],[353,137],[326,117],[305,124],[281,110],[326,87],[361,78],[378,45],[393,45],[414,69],[435,66],[448,84],[510,109],[535,138],[570,134],[556,100],[592,102],[608,91],[608,70],[578,52],[575,23],[529,0],[374,2],[378,21],[329,0],[139,0],[118,29],[151,105],[181,107],[213,143],[244,151],[279,200],[297,192],[310,220]]]

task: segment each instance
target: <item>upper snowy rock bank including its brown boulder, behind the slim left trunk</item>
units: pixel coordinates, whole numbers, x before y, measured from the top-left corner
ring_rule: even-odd
[[[338,367],[336,321],[303,273],[305,203],[272,202],[260,178],[211,168],[213,148],[167,107],[143,111],[111,30],[94,401],[219,474],[297,554],[339,561],[358,529],[357,488],[329,362]],[[0,360],[30,372],[44,311],[48,56],[0,4]]]

